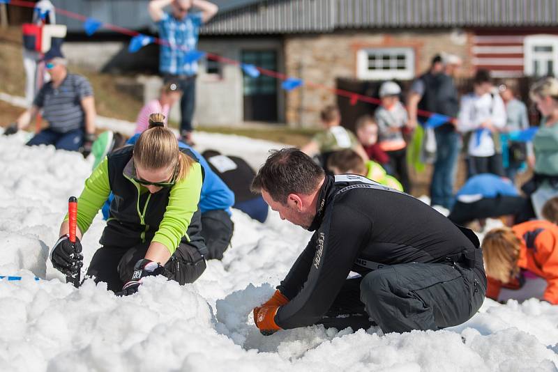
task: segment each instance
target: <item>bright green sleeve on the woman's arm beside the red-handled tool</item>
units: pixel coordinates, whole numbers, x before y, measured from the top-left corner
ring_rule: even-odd
[[[93,170],[91,176],[85,180],[85,187],[77,199],[77,227],[84,234],[93,218],[103,207],[110,194],[109,168],[107,158]],[[64,221],[68,220],[68,215]]]

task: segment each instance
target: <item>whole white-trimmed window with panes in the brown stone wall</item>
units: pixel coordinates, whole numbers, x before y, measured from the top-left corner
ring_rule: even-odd
[[[356,54],[356,76],[359,79],[412,79],[414,49],[360,49]]]

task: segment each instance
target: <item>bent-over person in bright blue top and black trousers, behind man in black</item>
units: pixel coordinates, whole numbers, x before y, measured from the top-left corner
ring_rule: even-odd
[[[524,206],[511,180],[492,173],[481,173],[467,180],[455,195],[448,218],[455,224],[467,224],[475,219],[516,215]]]

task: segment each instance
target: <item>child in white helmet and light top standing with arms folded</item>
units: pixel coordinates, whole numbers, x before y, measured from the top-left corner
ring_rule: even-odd
[[[389,156],[389,163],[395,178],[398,178],[405,192],[411,190],[407,169],[407,144],[402,130],[407,127],[407,110],[401,104],[401,88],[396,82],[384,82],[379,87],[382,104],[374,113],[379,129],[379,146]]]

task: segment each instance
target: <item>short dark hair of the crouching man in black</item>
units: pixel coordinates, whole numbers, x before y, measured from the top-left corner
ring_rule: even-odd
[[[289,194],[315,191],[325,172],[298,148],[271,150],[271,155],[252,180],[252,192],[266,190],[274,201],[287,203]]]

